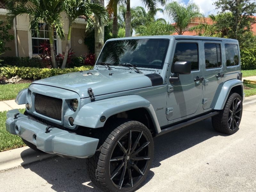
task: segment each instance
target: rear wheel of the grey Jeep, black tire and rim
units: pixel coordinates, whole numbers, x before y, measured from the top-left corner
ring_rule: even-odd
[[[239,129],[242,113],[242,98],[238,93],[232,93],[220,113],[212,117],[212,126],[218,132],[234,134]]]

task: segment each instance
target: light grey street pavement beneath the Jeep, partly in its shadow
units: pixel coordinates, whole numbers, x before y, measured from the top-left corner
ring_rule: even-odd
[[[256,104],[244,106],[240,129],[215,132],[211,119],[154,139],[154,161],[139,192],[256,191]],[[96,192],[83,159],[54,157],[0,172],[2,192]]]

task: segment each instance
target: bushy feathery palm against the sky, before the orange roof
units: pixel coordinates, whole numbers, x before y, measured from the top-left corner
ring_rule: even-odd
[[[193,20],[204,17],[195,3],[183,6],[176,1],[166,4],[165,13],[176,23],[175,31],[178,35],[183,35],[185,31],[188,31],[187,27]]]

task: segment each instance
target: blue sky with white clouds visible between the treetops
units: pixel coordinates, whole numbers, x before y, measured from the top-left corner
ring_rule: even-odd
[[[200,12],[204,14],[204,16],[208,16],[209,14],[216,14],[219,10],[215,9],[215,5],[213,3],[216,0],[174,0],[179,2],[180,4],[187,5],[188,3],[195,3],[199,5]],[[172,2],[172,0],[167,0],[167,3]],[[108,3],[108,0],[105,0],[105,5]],[[145,8],[144,4],[140,0],[131,0],[131,7],[134,6],[142,6]],[[158,4],[159,8],[163,8],[160,4]],[[163,13],[157,12],[156,13],[156,19],[158,18],[164,18],[166,21],[172,22],[172,20],[167,16],[164,15]]]

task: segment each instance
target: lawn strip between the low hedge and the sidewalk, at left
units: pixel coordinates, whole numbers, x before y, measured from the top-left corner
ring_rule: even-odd
[[[29,85],[30,83],[0,85],[0,101],[15,99],[18,92],[28,88]]]

